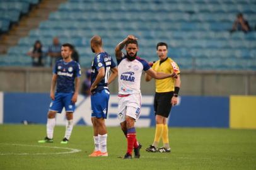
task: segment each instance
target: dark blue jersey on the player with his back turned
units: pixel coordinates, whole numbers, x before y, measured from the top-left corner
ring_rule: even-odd
[[[109,71],[115,67],[112,57],[107,52],[101,52],[96,54],[93,63],[91,64],[91,84],[95,82],[96,76],[98,75],[98,69],[105,68],[105,77],[97,84],[95,91],[101,91],[104,87],[107,87]]]

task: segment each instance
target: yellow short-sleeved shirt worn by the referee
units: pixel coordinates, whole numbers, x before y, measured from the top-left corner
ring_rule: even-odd
[[[165,72],[165,73],[173,73],[176,72],[177,74],[180,74],[180,69],[178,68],[178,65],[169,57],[167,57],[165,60],[156,61],[152,69],[156,72]],[[156,81],[156,92],[157,93],[163,93],[163,92],[170,92],[174,91],[175,86],[175,78],[167,78],[167,79],[155,79]]]

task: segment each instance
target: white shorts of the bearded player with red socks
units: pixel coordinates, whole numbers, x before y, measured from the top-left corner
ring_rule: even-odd
[[[137,120],[141,115],[141,93],[130,94],[129,96],[118,97],[118,118],[119,122],[125,121],[125,116]]]

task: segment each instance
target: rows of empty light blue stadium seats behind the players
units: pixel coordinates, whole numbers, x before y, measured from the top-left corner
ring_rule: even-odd
[[[9,3],[12,1],[4,2]],[[133,34],[139,38],[139,55],[149,61],[157,59],[155,46],[163,41],[170,45],[169,55],[181,69],[255,71],[256,32],[229,32],[237,13],[243,13],[254,28],[253,0],[69,0],[8,50],[8,57],[16,57],[15,61],[0,57],[0,62],[30,65],[26,52],[35,40],[48,47],[57,36],[62,43],[73,43],[81,56],[81,65],[90,67],[93,35],[102,36],[105,50],[114,55],[115,45]],[[4,17],[12,14],[6,12]],[[8,25],[0,22],[3,24]]]

